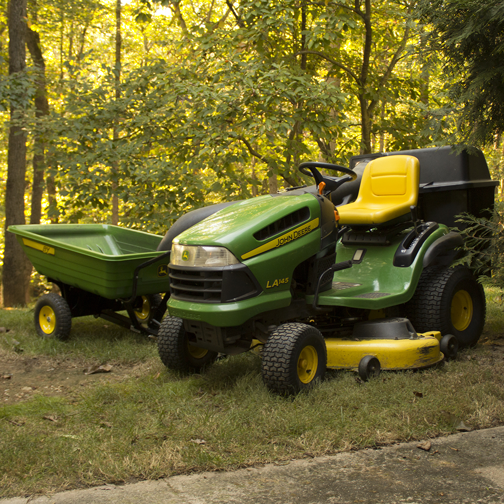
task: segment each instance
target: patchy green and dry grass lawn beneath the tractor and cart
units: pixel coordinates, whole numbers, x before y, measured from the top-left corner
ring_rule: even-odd
[[[29,311],[2,312],[0,326],[15,327],[16,334],[0,338],[0,357],[22,347],[23,355],[144,361],[146,371],[71,396],[0,406],[0,497],[434,437],[453,431],[444,410],[473,428],[502,424],[504,353],[494,343],[504,316],[495,293],[487,296],[481,344],[457,360],[419,372],[383,372],[366,384],[351,371],[329,371],[323,383],[294,399],[265,389],[255,354],[181,376],[164,368],[152,342],[104,328],[103,321],[82,319],[68,342],[58,342],[35,336]]]

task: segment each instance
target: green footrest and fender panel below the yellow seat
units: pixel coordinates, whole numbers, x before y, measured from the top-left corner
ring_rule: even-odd
[[[355,251],[359,248],[367,249],[360,264],[354,264],[351,268],[337,271],[334,274],[333,286],[345,287],[341,284],[335,285],[334,282],[358,285],[321,292],[318,297],[319,306],[381,309],[408,301],[413,296],[422,273],[425,252],[437,238],[448,233],[449,229],[443,224],[440,225],[439,229],[436,229],[425,240],[409,267],[397,267],[392,264],[394,253],[404,234],[401,234],[389,246],[348,246],[338,243],[336,247],[337,262],[352,259]],[[363,295],[369,297],[357,297]],[[306,296],[306,302],[312,303],[313,296]]]

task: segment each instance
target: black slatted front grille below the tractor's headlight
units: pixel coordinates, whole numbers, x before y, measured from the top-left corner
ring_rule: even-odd
[[[170,296],[180,301],[229,303],[262,292],[244,264],[220,268],[184,268],[169,265]]]

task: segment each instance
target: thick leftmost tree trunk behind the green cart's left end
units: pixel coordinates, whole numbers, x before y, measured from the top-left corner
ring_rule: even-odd
[[[9,75],[21,74],[26,66],[26,0],[11,0],[9,17]],[[16,97],[11,96],[11,121],[22,114]],[[11,123],[7,156],[5,229],[25,223],[26,134]],[[5,233],[2,286],[4,306],[24,305],[27,301],[27,259],[13,233]]]

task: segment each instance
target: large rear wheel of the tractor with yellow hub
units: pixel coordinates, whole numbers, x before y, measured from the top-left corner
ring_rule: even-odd
[[[465,266],[426,268],[406,310],[419,333],[453,334],[461,348],[470,347],[485,325],[485,293]]]

